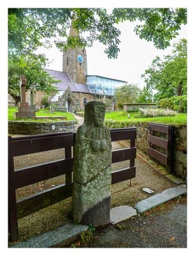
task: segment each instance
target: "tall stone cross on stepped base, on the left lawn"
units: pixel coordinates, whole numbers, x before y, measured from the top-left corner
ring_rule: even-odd
[[[28,102],[25,101],[25,85],[27,80],[25,79],[24,75],[20,76],[20,103],[18,106],[18,112],[15,113],[16,118],[31,118],[35,119],[36,115],[32,111],[32,108],[29,106]]]

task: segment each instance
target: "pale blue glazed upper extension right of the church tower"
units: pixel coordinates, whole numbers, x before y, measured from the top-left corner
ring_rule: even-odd
[[[113,96],[117,87],[124,85],[126,81],[120,81],[102,76],[87,76],[87,86],[91,93]]]

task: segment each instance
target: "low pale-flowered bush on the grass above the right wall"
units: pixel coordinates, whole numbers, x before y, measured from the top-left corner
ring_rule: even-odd
[[[176,111],[171,109],[159,109],[159,108],[148,108],[141,109],[140,114],[142,117],[157,117],[157,116],[175,116],[177,115]]]

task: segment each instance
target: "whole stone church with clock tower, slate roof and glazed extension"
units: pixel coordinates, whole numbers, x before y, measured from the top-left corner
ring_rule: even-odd
[[[78,36],[74,28],[70,28],[69,36]],[[54,84],[58,92],[49,98],[49,102],[65,111],[75,112],[84,109],[85,104],[91,100],[112,99],[116,88],[126,81],[110,79],[87,74],[87,52],[85,48],[69,48],[63,52],[62,72],[45,69],[57,80]]]

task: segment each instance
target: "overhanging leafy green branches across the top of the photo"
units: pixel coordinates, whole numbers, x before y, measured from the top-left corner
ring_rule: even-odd
[[[138,21],[134,28],[141,39],[153,41],[164,49],[187,23],[186,8],[115,8],[108,14],[103,8],[10,8],[8,10],[9,51],[31,54],[40,46],[61,50],[92,46],[98,40],[105,45],[108,58],[117,58],[120,31],[116,25],[124,20]],[[79,36],[68,36],[73,26]]]

